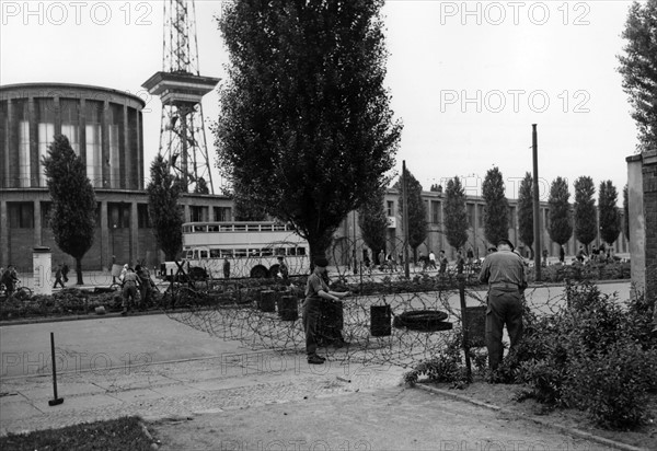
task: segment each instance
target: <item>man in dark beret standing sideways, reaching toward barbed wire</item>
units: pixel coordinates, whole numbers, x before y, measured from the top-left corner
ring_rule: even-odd
[[[303,301],[302,321],[306,331],[306,356],[310,365],[322,365],[326,360],[318,356],[319,322],[322,308],[322,301],[338,301],[346,297],[348,292],[331,291],[325,282],[326,267],[328,261],[323,257],[315,257],[314,269],[306,284],[306,300]],[[344,340],[339,345],[346,345]]]

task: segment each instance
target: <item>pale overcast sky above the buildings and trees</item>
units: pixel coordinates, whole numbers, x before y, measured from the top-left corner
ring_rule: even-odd
[[[596,185],[611,180],[621,192],[625,157],[636,147],[616,71],[630,4],[387,1],[387,83],[404,124],[397,172],[405,160],[425,189],[458,175],[466,194],[479,195],[486,171],[498,166],[507,196],[517,197],[519,181],[531,172],[531,125],[538,124],[542,198],[557,176],[570,186],[579,175]],[[150,162],[161,105],[141,83],[162,68],[163,3],[0,5],[0,83],[81,83],[140,95]],[[214,19],[220,10],[220,1],[196,1],[200,72],[223,79],[228,56]],[[216,93],[203,106],[214,120]]]

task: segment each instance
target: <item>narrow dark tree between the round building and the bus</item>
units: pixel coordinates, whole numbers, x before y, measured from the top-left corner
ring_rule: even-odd
[[[183,217],[178,208],[181,186],[170,171],[169,162],[158,154],[150,167],[148,215],[153,235],[166,261],[174,261],[183,248]]]

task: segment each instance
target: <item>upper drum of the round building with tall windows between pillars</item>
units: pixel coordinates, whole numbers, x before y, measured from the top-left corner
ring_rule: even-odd
[[[77,84],[0,86],[2,188],[45,187],[41,164],[55,135],[66,135],[96,188],[143,188],[145,102]]]

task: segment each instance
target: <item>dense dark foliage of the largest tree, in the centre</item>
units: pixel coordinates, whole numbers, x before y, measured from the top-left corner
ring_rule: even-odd
[[[383,86],[382,5],[239,1],[218,19],[230,59],[214,127],[220,166],[313,255],[394,164],[401,124]]]

